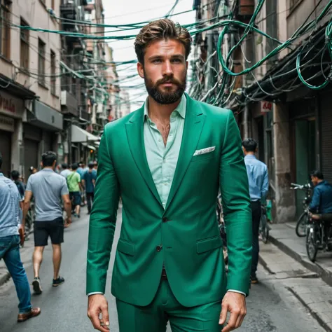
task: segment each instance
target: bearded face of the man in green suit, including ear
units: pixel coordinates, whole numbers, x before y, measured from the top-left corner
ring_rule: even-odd
[[[137,64],[146,90],[159,104],[174,104],[186,90],[188,62],[180,41],[161,39],[146,48],[144,64]]]

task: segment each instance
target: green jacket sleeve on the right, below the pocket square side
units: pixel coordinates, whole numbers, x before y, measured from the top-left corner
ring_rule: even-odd
[[[219,179],[227,230],[227,290],[242,291],[248,296],[252,259],[251,202],[240,131],[232,111],[228,111]]]

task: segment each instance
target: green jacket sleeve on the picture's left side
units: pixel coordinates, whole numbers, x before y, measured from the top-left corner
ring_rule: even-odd
[[[105,292],[107,270],[116,228],[120,189],[107,146],[108,132],[99,145],[95,200],[90,215],[86,293]]]

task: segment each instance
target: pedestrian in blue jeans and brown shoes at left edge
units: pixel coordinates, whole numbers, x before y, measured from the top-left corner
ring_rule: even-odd
[[[1,166],[0,153],[0,170]],[[20,244],[24,242],[25,229],[19,217],[21,200],[17,186],[0,172],[0,260],[4,259],[18,294],[18,322],[41,313],[39,307],[32,307],[29,281],[20,257]]]

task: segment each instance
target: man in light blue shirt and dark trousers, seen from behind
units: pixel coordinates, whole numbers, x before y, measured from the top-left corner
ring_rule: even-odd
[[[261,221],[261,200],[265,200],[265,196],[268,193],[268,167],[266,167],[264,162],[256,159],[257,142],[254,139],[244,139],[242,146],[245,155],[244,162],[247,167],[252,211],[251,283],[256,284],[258,282],[256,271],[259,254],[258,232]]]

